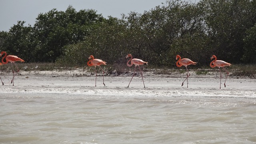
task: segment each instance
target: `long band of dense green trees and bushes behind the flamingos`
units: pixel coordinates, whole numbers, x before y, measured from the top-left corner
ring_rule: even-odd
[[[90,55],[123,64],[128,53],[168,67],[175,67],[177,54],[196,66],[209,66],[213,54],[232,64],[255,63],[255,7],[255,0],[167,0],[143,14],[106,19],[69,6],[39,14],[34,27],[19,21],[0,32],[0,48],[26,62],[75,65],[85,65]]]

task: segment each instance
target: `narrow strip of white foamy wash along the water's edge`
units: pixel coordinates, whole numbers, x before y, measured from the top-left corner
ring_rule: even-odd
[[[154,97],[231,97],[231,98],[256,98],[255,90],[238,90],[238,89],[185,89],[185,88],[2,88],[2,94],[4,95],[50,95],[50,94],[62,94],[62,96],[70,95],[86,95],[86,96],[104,96],[115,98],[154,98]]]

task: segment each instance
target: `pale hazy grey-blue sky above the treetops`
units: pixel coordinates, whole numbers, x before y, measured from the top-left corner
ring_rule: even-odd
[[[121,18],[121,14],[131,11],[143,13],[166,0],[0,0],[0,31],[9,31],[18,20],[34,25],[38,14],[46,13],[53,8],[65,11],[72,5],[76,11],[93,9],[105,18],[113,16]]]

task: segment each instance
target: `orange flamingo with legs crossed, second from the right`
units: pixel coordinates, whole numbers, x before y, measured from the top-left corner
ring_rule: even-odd
[[[179,58],[179,60],[178,60]],[[180,55],[177,55],[176,56],[176,60],[178,60],[176,62],[176,66],[178,66],[179,68],[181,66],[185,66],[186,67],[186,70],[187,70],[187,78],[185,80],[187,80],[187,88],[188,88],[188,77],[190,76],[190,73],[188,71],[188,68],[187,66],[190,65],[190,64],[193,64],[193,65],[196,65],[196,62],[193,62],[192,60],[188,59],[188,58],[182,58],[180,57]],[[182,82],[181,86],[183,86],[183,83],[185,82],[185,80]]]

